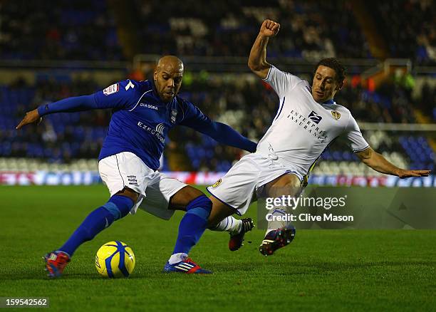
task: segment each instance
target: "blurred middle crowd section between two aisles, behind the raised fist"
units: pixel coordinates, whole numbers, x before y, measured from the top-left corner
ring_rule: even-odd
[[[269,56],[319,58],[368,57],[365,38],[346,1],[136,1],[140,36],[160,42],[147,53],[182,56],[247,56],[265,16],[281,23],[280,39]],[[169,19],[162,16],[170,14]],[[176,13],[177,12],[177,13]]]

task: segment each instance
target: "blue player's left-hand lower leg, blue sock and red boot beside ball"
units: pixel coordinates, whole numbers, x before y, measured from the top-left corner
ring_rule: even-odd
[[[82,224],[73,232],[65,244],[43,257],[46,261],[48,276],[61,276],[74,251],[85,241],[90,241],[103,229],[113,224],[115,220],[125,217],[136,200],[137,193],[130,189],[123,189],[122,192],[110,197],[103,206],[88,214],[88,217],[83,220]]]

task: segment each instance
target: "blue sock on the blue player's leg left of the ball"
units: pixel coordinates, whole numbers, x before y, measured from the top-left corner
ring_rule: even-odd
[[[125,217],[132,209],[133,204],[133,200],[129,197],[113,195],[106,204],[88,214],[88,217],[83,220],[68,241],[58,250],[73,256],[78,246],[93,239],[95,235],[109,227],[115,220]]]

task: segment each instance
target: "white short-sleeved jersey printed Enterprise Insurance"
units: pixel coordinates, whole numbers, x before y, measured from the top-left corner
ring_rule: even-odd
[[[317,103],[306,80],[271,66],[264,81],[279,95],[280,104],[256,152],[278,157],[286,167],[304,176],[340,135],[346,135],[353,152],[369,147],[350,110],[333,100]]]

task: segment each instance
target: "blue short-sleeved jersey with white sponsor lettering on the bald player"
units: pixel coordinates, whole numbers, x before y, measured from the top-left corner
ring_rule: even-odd
[[[94,93],[94,97],[98,108],[113,108],[98,160],[133,152],[157,170],[170,129],[186,125],[201,131],[212,123],[197,106],[178,96],[162,102],[151,80],[123,80]]]

